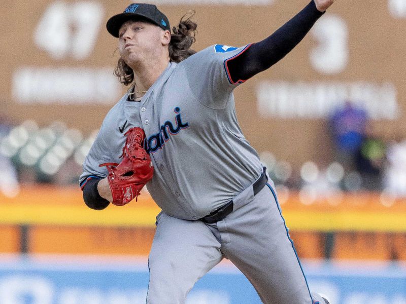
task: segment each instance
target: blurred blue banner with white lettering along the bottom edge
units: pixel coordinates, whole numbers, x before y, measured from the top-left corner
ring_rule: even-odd
[[[304,261],[310,288],[331,304],[406,304],[406,264]],[[1,304],[141,304],[145,259],[0,256]],[[196,283],[187,304],[260,304],[248,280],[222,262]]]

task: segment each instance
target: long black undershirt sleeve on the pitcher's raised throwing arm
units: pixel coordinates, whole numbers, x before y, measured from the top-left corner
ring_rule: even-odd
[[[306,36],[323,14],[312,0],[275,33],[229,60],[227,66],[232,82],[245,81],[277,63]]]

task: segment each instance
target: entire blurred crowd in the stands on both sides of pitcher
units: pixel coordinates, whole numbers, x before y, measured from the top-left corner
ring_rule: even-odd
[[[260,153],[280,192],[299,191],[303,203],[356,191],[379,192],[389,201],[406,197],[404,134],[374,128],[366,111],[352,101],[331,113],[326,128],[333,146],[328,164],[309,160],[295,167],[272,151]],[[34,121],[13,124],[0,116],[1,192],[13,197],[25,183],[78,184],[96,134],[83,134],[58,121],[39,127]]]

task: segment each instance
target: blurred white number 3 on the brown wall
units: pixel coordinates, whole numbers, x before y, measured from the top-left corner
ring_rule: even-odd
[[[342,72],[349,59],[348,28],[345,21],[339,16],[323,16],[316,22],[311,34],[319,43],[310,53],[313,68],[324,74]]]

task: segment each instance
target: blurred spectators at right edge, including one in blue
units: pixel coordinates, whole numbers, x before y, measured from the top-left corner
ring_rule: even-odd
[[[335,160],[345,170],[359,174],[360,189],[406,196],[403,134],[374,127],[367,112],[351,101],[336,109],[328,129],[336,151]]]

